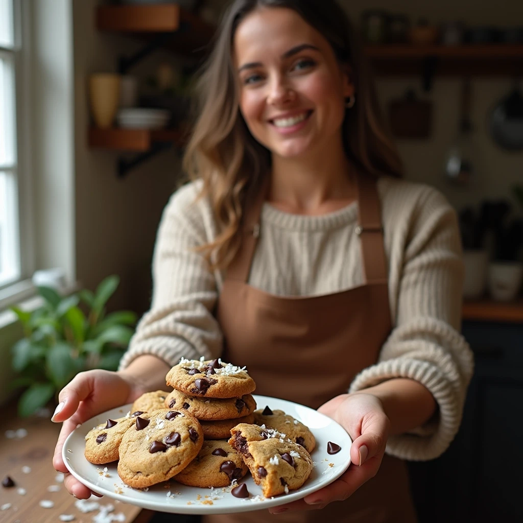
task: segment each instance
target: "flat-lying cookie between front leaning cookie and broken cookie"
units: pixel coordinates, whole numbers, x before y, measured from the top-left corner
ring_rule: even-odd
[[[226,441],[204,441],[198,456],[173,477],[193,487],[225,487],[248,472],[240,453]]]

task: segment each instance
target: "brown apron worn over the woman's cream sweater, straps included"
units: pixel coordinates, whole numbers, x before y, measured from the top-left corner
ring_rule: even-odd
[[[247,366],[256,393],[318,408],[347,392],[356,374],[378,360],[391,331],[387,268],[376,182],[358,176],[359,228],[366,283],[343,292],[281,297],[248,285],[266,191],[246,209],[241,249],[229,266],[218,301],[225,361]],[[305,255],[305,253],[304,253]],[[350,465],[354,467],[355,465]],[[276,518],[276,519],[275,519]],[[416,521],[405,464],[385,454],[378,474],[344,502],[322,510],[271,515],[268,510],[203,518],[305,522]],[[335,519],[334,519],[335,518]]]

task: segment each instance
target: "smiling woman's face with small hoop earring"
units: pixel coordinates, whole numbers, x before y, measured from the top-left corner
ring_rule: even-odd
[[[262,8],[234,36],[240,110],[254,138],[272,154],[328,154],[340,133],[348,74],[316,29],[292,9]]]

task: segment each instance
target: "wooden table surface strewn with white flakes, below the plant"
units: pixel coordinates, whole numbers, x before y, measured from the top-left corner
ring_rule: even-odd
[[[53,423],[48,416],[18,418],[14,404],[2,407],[2,430],[0,431],[0,481],[10,476],[14,487],[0,486],[0,523],[55,523],[60,515],[74,515],[74,523],[92,523],[99,509],[82,513],[76,506],[78,500],[66,491],[61,478],[53,468],[52,457],[61,424]],[[27,436],[8,438],[6,431],[26,429]],[[26,473],[22,469],[30,467]],[[28,470],[28,469],[27,469]],[[59,481],[60,480],[60,481]],[[51,492],[48,487],[51,487]],[[60,490],[52,492],[59,486]],[[26,490],[25,495],[18,492]],[[40,501],[54,503],[52,508],[42,508]],[[92,498],[100,507],[113,505],[112,514],[123,513],[126,523],[147,523],[153,515],[134,505],[107,497]],[[10,506],[8,506],[10,504]]]

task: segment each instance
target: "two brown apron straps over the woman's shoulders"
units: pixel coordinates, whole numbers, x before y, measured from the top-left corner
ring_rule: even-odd
[[[383,227],[381,224],[381,206],[376,189],[376,180],[357,174],[358,225],[356,234],[361,238],[361,254],[365,281],[384,283],[387,281],[385,249],[383,245]],[[242,220],[242,241],[236,256],[226,271],[226,279],[248,282],[252,259],[260,234],[260,216],[267,198],[269,177],[267,176],[256,191],[247,199]]]

